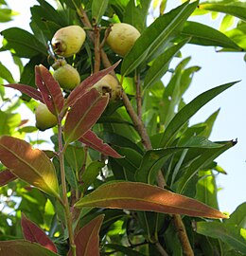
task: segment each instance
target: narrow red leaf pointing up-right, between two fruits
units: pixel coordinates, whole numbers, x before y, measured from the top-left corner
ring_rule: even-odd
[[[117,63],[115,63],[114,65],[105,68],[93,75],[91,75],[90,77],[88,77],[87,79],[85,79],[83,82],[81,82],[79,84],[79,86],[77,86],[69,95],[69,97],[67,98],[67,101],[65,102],[65,106],[72,106],[76,101],[79,100],[79,98],[81,98],[85,93],[87,93],[90,88],[99,80],[101,80],[104,76],[106,76],[107,74],[109,74],[111,71],[114,70],[114,68],[120,63],[120,61],[118,61]]]

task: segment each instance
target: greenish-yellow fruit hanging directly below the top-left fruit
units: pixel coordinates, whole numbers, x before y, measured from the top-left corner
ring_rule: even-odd
[[[73,90],[79,85],[79,72],[71,64],[67,64],[65,60],[58,60],[52,67],[55,69],[53,77],[63,89]]]

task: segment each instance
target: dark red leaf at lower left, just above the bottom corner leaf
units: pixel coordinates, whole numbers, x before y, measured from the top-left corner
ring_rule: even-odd
[[[48,248],[54,252],[58,252],[54,243],[48,238],[44,230],[40,229],[36,224],[28,220],[25,214],[22,213],[21,219],[23,234],[26,240],[40,244],[43,247]]]

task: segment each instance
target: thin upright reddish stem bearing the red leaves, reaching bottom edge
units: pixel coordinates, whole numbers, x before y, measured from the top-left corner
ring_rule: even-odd
[[[70,212],[70,207],[69,207],[69,202],[68,202],[67,192],[66,192],[65,167],[64,167],[65,147],[63,147],[63,144],[62,144],[62,119],[59,119],[59,122],[58,122],[58,138],[59,138],[59,160],[60,160],[61,179],[62,179],[62,204],[65,210],[66,228],[68,229],[70,247],[72,249],[73,256],[76,256],[76,245],[75,245],[74,232],[73,232],[73,226],[72,226],[72,215]]]

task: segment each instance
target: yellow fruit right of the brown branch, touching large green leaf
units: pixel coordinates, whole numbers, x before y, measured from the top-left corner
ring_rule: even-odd
[[[115,23],[106,42],[115,53],[124,57],[130,51],[139,36],[139,31],[132,25]]]

